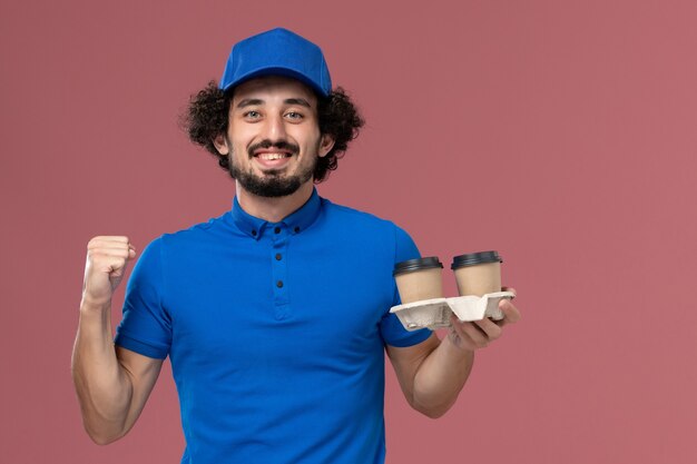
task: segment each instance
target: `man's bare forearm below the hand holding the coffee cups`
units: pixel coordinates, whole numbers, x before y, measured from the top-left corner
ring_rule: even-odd
[[[445,336],[416,371],[413,407],[433,418],[445,414],[455,403],[473,363],[474,352],[453,345]]]

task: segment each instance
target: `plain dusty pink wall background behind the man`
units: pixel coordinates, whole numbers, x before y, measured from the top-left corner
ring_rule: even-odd
[[[82,431],[86,244],[229,208],[177,115],[234,41],[285,26],[369,121],[321,194],[446,263],[498,249],[519,292],[445,417],[390,371],[389,462],[697,462],[696,23],[694,1],[4,0],[0,461],[178,462],[168,364],[126,438]]]

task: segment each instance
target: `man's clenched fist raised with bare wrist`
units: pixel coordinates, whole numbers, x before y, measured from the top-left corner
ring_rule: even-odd
[[[136,257],[128,237],[95,237],[87,245],[82,300],[95,305],[111,302],[114,290],[126,274],[126,265]]]

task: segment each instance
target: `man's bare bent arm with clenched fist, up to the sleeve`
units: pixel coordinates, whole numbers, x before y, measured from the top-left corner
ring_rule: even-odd
[[[85,430],[97,444],[111,443],[132,427],[163,365],[114,345],[111,297],[135,257],[127,237],[95,237],[87,247],[72,379]]]

